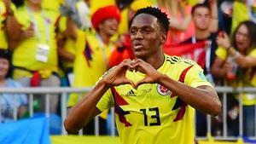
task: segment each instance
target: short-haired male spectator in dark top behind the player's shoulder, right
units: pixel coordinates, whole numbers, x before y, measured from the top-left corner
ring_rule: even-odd
[[[195,35],[189,37],[188,40],[183,43],[199,43],[207,42],[202,48],[195,50],[196,55],[201,55],[204,59],[202,68],[207,77],[207,80],[214,84],[211,66],[215,58],[215,50],[217,49],[216,37],[218,35],[218,14],[217,14],[217,2],[211,1],[210,6],[206,3],[198,3],[192,8],[192,20],[195,25]],[[212,26],[215,27],[213,31]],[[195,57],[199,60],[199,56]],[[207,135],[207,115],[197,111],[196,112],[196,135],[206,136]]]

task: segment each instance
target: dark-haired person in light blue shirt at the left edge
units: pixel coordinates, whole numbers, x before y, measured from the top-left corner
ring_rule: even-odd
[[[11,78],[11,55],[7,49],[0,49],[0,89],[21,88],[21,85]],[[14,101],[16,100],[16,101]],[[27,97],[24,94],[0,93],[0,123],[13,122],[26,112]],[[17,116],[14,116],[17,108]]]

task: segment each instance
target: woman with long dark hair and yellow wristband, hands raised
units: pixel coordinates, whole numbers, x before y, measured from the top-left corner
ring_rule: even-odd
[[[256,86],[256,24],[252,21],[243,21],[237,26],[232,40],[226,33],[219,35],[216,50],[216,60],[212,66],[212,75],[225,78],[233,87]],[[230,73],[230,71],[232,73]],[[232,75],[230,75],[232,74]],[[238,98],[238,95],[236,95]],[[243,132],[244,135],[255,135],[256,95],[251,93],[242,94]],[[234,113],[235,112],[235,113]],[[229,117],[238,117],[237,106],[232,107]],[[234,119],[235,119],[234,118]],[[231,125],[231,128],[234,124]],[[236,133],[235,133],[236,134]]]

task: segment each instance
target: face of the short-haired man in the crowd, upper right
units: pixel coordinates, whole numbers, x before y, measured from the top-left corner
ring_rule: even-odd
[[[197,29],[207,30],[211,22],[209,9],[202,7],[195,9],[193,14],[193,21]]]

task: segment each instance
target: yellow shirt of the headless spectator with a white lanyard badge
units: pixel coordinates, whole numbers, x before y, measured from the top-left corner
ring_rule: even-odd
[[[52,72],[57,71],[58,56],[55,39],[55,23],[58,21],[59,14],[52,10],[42,10],[31,12],[25,6],[16,9],[15,18],[20,23],[22,30],[26,30],[32,23],[37,26],[37,32],[34,30],[34,36],[22,39],[14,50],[13,64],[30,71],[39,71],[42,78],[49,78]],[[40,55],[39,44],[47,45],[47,54],[45,61],[38,60]],[[45,48],[45,49],[47,49]],[[32,74],[25,71],[15,70],[14,78],[32,77]]]

